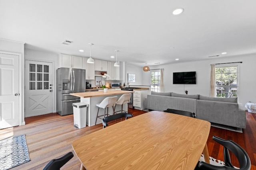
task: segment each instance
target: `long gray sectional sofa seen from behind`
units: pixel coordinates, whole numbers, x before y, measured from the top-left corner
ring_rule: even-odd
[[[149,110],[157,111],[166,109],[190,111],[195,113],[198,119],[232,127],[246,127],[245,109],[242,104],[237,103],[237,98],[151,92],[145,99],[145,106]]]

